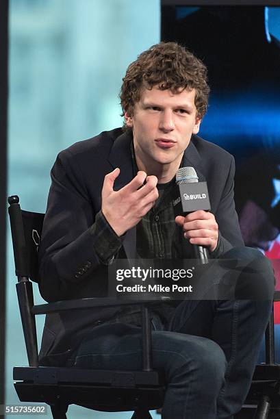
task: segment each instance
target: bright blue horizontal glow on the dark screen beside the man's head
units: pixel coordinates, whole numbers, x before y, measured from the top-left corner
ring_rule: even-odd
[[[234,140],[267,147],[280,143],[280,98],[272,92],[229,92],[212,95],[201,124],[201,136],[226,147]]]

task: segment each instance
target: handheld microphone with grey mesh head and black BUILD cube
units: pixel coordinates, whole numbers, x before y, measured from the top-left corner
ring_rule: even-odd
[[[196,210],[209,211],[210,201],[206,182],[199,182],[193,167],[181,167],[176,173],[183,214]],[[205,246],[193,244],[194,255],[201,264],[208,263],[209,251]]]

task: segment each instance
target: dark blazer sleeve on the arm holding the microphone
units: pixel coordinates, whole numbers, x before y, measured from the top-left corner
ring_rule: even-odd
[[[220,257],[235,246],[244,246],[240,225],[238,223],[238,214],[234,203],[234,175],[236,166],[234,158],[231,155],[229,174],[222,191],[222,196],[215,217],[219,227],[218,245],[212,257]]]

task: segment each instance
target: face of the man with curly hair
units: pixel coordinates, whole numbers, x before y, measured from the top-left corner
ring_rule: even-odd
[[[173,94],[157,86],[142,88],[133,116],[125,112],[127,126],[133,130],[136,160],[144,168],[167,164],[177,170],[192,134],[199,132],[194,97],[195,90]]]

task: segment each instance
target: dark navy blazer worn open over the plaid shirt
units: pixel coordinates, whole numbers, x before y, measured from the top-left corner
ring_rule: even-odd
[[[107,266],[94,252],[91,226],[101,210],[101,190],[107,173],[120,168],[114,189],[133,177],[131,131],[118,128],[73,144],[62,151],[51,170],[51,189],[39,250],[42,297],[47,301],[107,296]],[[193,166],[199,181],[207,181],[211,211],[219,226],[223,251],[243,240],[233,201],[233,156],[193,135],[183,166]],[[123,249],[133,258],[136,228],[125,234]],[[86,331],[114,316],[116,307],[51,314],[46,318],[40,359],[61,364]],[[46,357],[48,356],[48,358]]]

